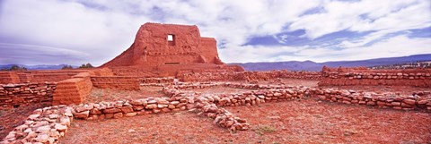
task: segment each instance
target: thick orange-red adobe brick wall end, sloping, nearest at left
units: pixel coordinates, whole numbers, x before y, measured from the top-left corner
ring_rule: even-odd
[[[61,80],[54,92],[53,105],[81,104],[92,90],[90,77]]]

